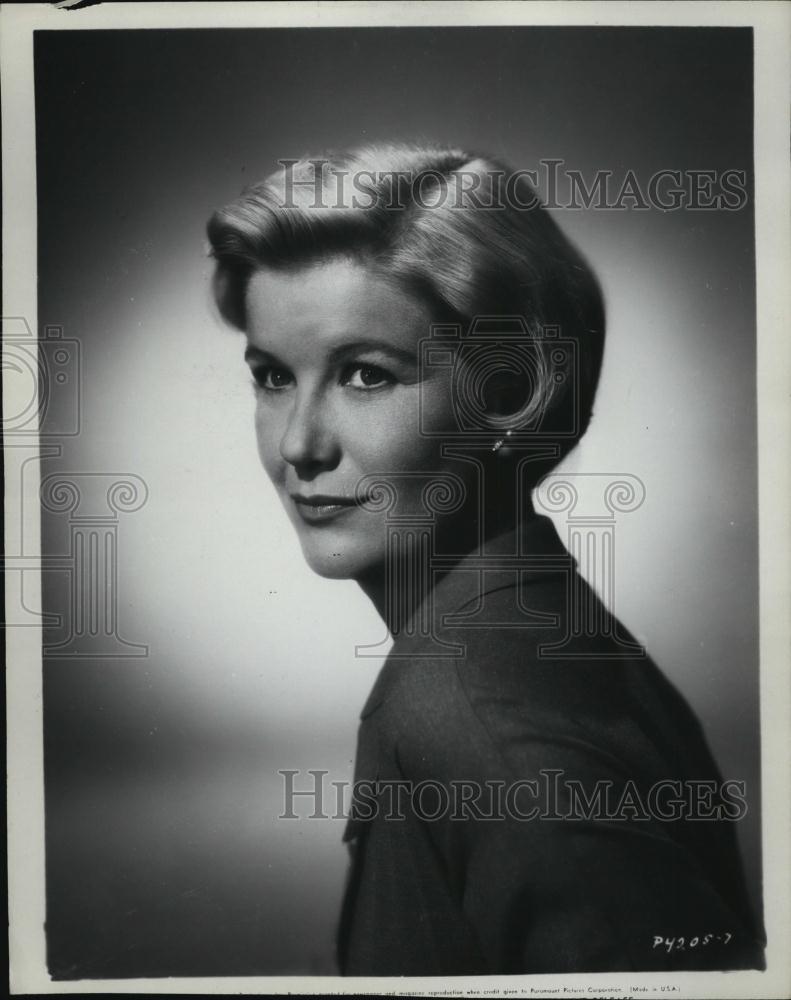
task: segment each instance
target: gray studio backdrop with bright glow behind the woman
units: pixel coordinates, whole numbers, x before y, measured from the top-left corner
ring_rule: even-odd
[[[342,822],[278,820],[277,772],[351,777],[381,663],[355,645],[384,626],[305,568],[259,469],[204,227],[277,159],[375,139],[493,153],[545,196],[542,159],[616,193],[743,172],[734,210],[554,211],[609,318],[564,468],[645,487],[616,610],[746,782],[758,905],[751,80],[741,29],[38,34],[38,332],[68,374],[42,464],[55,976],[333,971]]]

